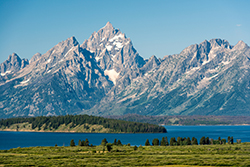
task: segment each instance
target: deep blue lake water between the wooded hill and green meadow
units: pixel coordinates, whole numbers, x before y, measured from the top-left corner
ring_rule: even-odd
[[[99,145],[102,139],[113,143],[114,139],[120,139],[122,144],[144,145],[146,139],[150,142],[154,138],[161,140],[162,137],[195,137],[200,140],[202,136],[218,139],[233,136],[234,141],[241,139],[242,142],[250,142],[250,126],[165,126],[168,133],[153,134],[106,134],[106,133],[46,133],[46,132],[2,132],[0,131],[0,150],[17,147],[31,146],[69,146],[70,140],[74,139],[76,145],[79,139],[89,140],[90,144]]]

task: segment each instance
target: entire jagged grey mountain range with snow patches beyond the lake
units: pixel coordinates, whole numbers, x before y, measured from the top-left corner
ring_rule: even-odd
[[[1,64],[0,117],[92,114],[250,115],[250,48],[212,39],[144,60],[107,23],[30,61]]]

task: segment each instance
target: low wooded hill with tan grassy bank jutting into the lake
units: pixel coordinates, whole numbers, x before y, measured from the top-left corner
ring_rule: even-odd
[[[84,133],[166,133],[162,126],[88,115],[9,118],[0,121],[2,131]]]

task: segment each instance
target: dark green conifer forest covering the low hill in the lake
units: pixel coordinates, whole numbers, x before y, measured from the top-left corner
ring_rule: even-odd
[[[70,125],[70,128],[74,128],[83,124],[91,125],[103,125],[104,128],[109,128],[112,132],[120,133],[166,133],[167,130],[163,126],[129,122],[115,119],[108,119],[97,116],[89,115],[65,115],[65,116],[39,116],[29,118],[8,118],[0,121],[0,126],[10,127],[13,124],[18,123],[30,123],[32,129],[38,128],[38,130],[52,130],[58,129],[60,125]],[[44,126],[45,124],[45,126]],[[88,129],[88,126],[84,126]]]

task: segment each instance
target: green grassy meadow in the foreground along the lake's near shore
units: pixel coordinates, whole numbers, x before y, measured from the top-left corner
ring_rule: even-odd
[[[250,166],[250,143],[234,145],[29,147],[0,150],[0,166]]]

